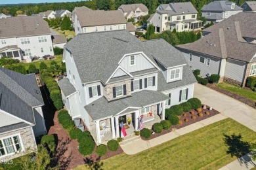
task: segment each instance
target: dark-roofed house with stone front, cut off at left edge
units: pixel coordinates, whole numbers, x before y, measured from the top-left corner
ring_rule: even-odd
[[[37,148],[35,137],[46,134],[43,105],[35,74],[0,67],[0,161]]]

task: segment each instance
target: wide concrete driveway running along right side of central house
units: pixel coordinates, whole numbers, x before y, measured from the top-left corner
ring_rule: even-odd
[[[194,97],[200,99],[203,104],[218,110],[224,116],[256,131],[256,110],[252,107],[198,83],[194,86]]]

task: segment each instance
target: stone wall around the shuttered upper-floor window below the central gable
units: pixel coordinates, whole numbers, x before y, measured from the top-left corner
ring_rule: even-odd
[[[113,97],[113,87],[114,86],[119,86],[119,85],[123,85],[123,84],[126,84],[126,95],[122,95],[120,97]],[[112,101],[114,99],[120,99],[120,98],[123,98],[123,97],[127,97],[131,95],[131,80],[126,80],[126,81],[123,81],[123,82],[117,82],[117,83],[114,83],[114,84],[108,84],[104,87],[104,97],[106,97],[106,99],[108,101]]]

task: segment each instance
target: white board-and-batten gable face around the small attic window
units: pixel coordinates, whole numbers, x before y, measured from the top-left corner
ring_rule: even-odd
[[[135,65],[130,65],[130,56],[135,56]],[[122,59],[119,65],[121,65],[121,67],[123,67],[129,73],[154,68],[154,65],[152,65],[152,63],[150,63],[148,59],[142,56],[142,54],[125,56],[125,58]]]

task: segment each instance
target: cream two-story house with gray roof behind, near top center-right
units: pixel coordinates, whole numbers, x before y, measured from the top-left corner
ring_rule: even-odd
[[[148,24],[153,24],[156,33],[165,30],[176,31],[200,30],[202,21],[196,20],[198,11],[192,3],[162,4],[156,9],[156,13],[148,18]]]

